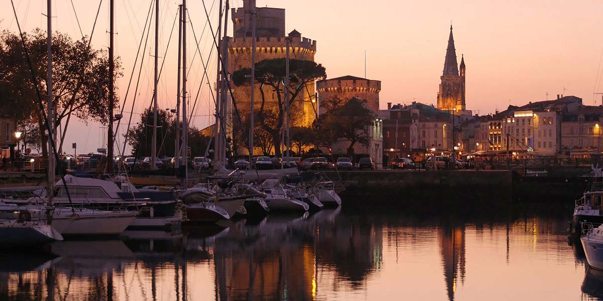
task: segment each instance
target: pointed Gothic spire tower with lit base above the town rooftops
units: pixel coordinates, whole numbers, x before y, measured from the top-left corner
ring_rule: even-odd
[[[465,111],[465,60],[461,57],[461,73],[456,64],[456,51],[454,38],[452,37],[452,25],[450,25],[450,37],[444,60],[444,71],[442,72],[440,91],[438,92],[438,109],[463,114]]]

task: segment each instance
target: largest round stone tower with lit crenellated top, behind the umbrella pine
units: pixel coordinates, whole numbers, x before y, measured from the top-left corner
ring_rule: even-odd
[[[234,37],[229,39],[228,72],[232,74],[236,70],[251,68],[251,2],[243,1],[243,7],[232,9],[232,22]],[[256,20],[256,63],[262,60],[286,57],[286,41],[289,37],[289,58],[291,60],[314,61],[316,52],[316,41],[301,37],[297,30],[285,34],[285,10],[282,8],[257,7]],[[233,95],[239,114],[245,118],[251,111],[251,88],[252,85],[232,86]],[[254,110],[260,109],[262,93],[260,85],[253,85],[255,89]],[[306,88],[297,95],[291,106],[291,126],[309,126],[314,122],[314,83],[308,84]],[[262,88],[266,99],[265,108],[274,108],[277,105],[277,95],[271,87]]]

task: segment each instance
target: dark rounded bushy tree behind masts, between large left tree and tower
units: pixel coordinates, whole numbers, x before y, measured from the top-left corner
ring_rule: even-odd
[[[153,110],[147,108],[140,115],[140,122],[134,125],[124,138],[132,147],[132,155],[134,157],[150,157],[152,151],[152,124]],[[175,116],[167,110],[157,111],[157,157],[173,157],[175,154],[175,137],[177,129],[181,125],[176,125]],[[180,129],[181,130],[181,129]],[[200,157],[205,154],[209,137],[200,134],[200,131],[194,126],[189,126],[188,135],[189,147],[191,147],[191,156]]]

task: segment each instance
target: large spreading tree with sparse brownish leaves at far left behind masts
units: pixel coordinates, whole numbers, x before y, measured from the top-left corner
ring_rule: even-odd
[[[40,108],[36,96],[30,67],[25,58],[21,37],[9,31],[0,34],[0,107],[12,110],[11,116],[17,120],[31,120],[37,123],[37,133],[28,131],[30,137],[38,137],[43,156],[48,155],[46,145],[46,126],[42,110],[46,111],[46,32],[34,29],[23,34],[27,51],[30,54],[33,72],[37,78],[40,94],[43,95],[43,108]],[[52,90],[54,94],[55,123],[51,125],[56,132],[63,123],[63,132],[57,133],[59,145],[63,144],[67,131],[67,122],[71,115],[87,123],[89,120],[109,122],[109,59],[106,50],[89,47],[87,37],[72,40],[62,33],[52,36]],[[121,76],[119,58],[115,61],[114,79]],[[115,105],[119,104],[116,99]],[[58,145],[57,145],[58,147]]]

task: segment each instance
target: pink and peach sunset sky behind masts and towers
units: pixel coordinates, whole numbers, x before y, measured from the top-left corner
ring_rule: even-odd
[[[13,0],[19,22],[25,31],[46,29],[46,1]],[[54,30],[80,39],[89,36],[101,0],[54,0]],[[159,107],[174,108],[177,75],[177,31],[174,24],[179,1],[159,0],[160,61],[165,59],[159,88]],[[216,31],[219,0],[204,0]],[[72,5],[73,3],[73,5]],[[142,29],[151,0],[117,0],[116,55],[123,62],[124,76],[117,82],[118,95],[124,100],[134,66]],[[241,7],[232,0],[230,7]],[[452,23],[456,54],[467,65],[466,104],[474,113],[488,114],[504,110],[509,104],[552,99],[557,94],[575,95],[584,104],[601,105],[603,92],[603,2],[599,0],[531,1],[406,1],[406,0],[257,0],[258,7],[286,9],[286,31],[297,29],[303,37],[317,40],[315,60],[323,64],[327,76],[366,77],[382,81],[380,107],[412,101],[435,104]],[[8,0],[0,10],[0,29],[17,31]],[[192,123],[205,128],[213,123],[210,87],[215,82],[215,53],[203,1],[189,1],[188,76],[189,102],[197,106]],[[76,18],[77,15],[77,18]],[[80,26],[78,26],[78,21]],[[103,0],[92,44],[109,45],[109,0]],[[153,25],[154,26],[154,25]],[[191,30],[192,29],[192,30]],[[232,29],[232,23],[229,25]],[[194,31],[194,33],[193,33]],[[168,40],[172,33],[172,40]],[[230,34],[232,36],[232,34]],[[207,64],[209,81],[204,78]],[[139,63],[124,108],[127,123],[132,123],[148,107],[153,94],[154,27],[139,60],[144,56],[134,110],[131,110]],[[143,42],[144,43],[144,42]],[[194,57],[194,58],[193,58]],[[203,80],[202,80],[203,79]],[[199,93],[197,93],[199,91]],[[547,96],[548,93],[548,96]],[[198,94],[198,96],[197,96]],[[596,102],[595,102],[596,101]],[[191,105],[192,106],[192,105]],[[120,108],[122,104],[120,104]],[[77,120],[69,126],[66,144],[78,143],[78,153],[95,151],[103,144],[105,129],[97,123]],[[119,132],[125,132],[124,124]],[[119,135],[119,143],[123,138]],[[69,144],[71,145],[71,144]],[[129,149],[126,149],[128,153]]]

